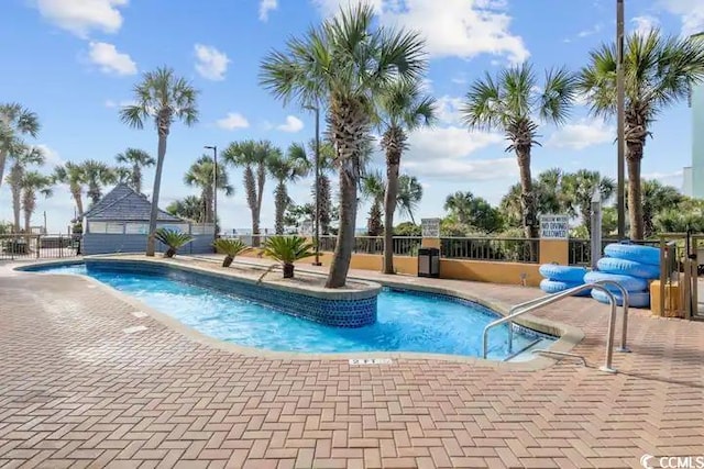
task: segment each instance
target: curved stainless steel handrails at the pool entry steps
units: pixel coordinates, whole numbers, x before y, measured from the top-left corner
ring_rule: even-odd
[[[536,298],[530,301],[526,301],[524,303],[519,303],[514,305],[508,314],[504,317],[501,317],[484,327],[484,332],[482,334],[482,343],[483,343],[483,357],[486,358],[488,355],[488,332],[490,330],[499,326],[504,323],[508,323],[508,354],[512,354],[514,348],[514,320],[518,316],[521,316],[531,311],[538,310],[539,308],[547,306],[548,304],[557,303],[558,301],[564,300],[565,298],[573,297],[578,293],[581,293],[586,290],[601,290],[606,294],[608,299],[608,303],[610,305],[610,314],[608,322],[608,336],[606,339],[606,357],[604,360],[604,366],[600,369],[606,372],[616,372],[616,369],[612,367],[613,358],[614,358],[614,334],[616,332],[616,312],[617,312],[617,301],[614,293],[606,288],[606,286],[615,287],[620,291],[623,298],[623,326],[622,326],[622,336],[620,336],[620,348],[618,351],[630,351],[627,347],[628,339],[628,291],[623,288],[620,284],[616,283],[613,280],[601,280],[593,283],[585,283],[569,290],[564,290],[560,293],[548,294],[546,297]],[[586,359],[580,355],[561,353],[561,351],[551,351],[546,349],[535,350],[535,353],[539,353],[542,355],[556,355],[562,357],[574,357],[582,360],[582,362],[586,364]]]

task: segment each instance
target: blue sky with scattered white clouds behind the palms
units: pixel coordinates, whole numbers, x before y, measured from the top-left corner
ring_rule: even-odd
[[[314,119],[284,108],[257,85],[258,64],[287,37],[334,13],[346,0],[3,0],[0,44],[3,72],[0,101],[18,101],[35,111],[42,145],[52,165],[96,158],[113,163],[127,147],[156,154],[152,127],[135,131],[118,118],[131,100],[140,74],[174,67],[200,90],[200,122],[175,125],[168,139],[162,203],[196,193],[183,175],[204,145],[226,147],[244,138],[266,138],[285,148],[314,135]],[[579,69],[588,51],[609,41],[615,0],[373,0],[380,22],[418,30],[427,37],[427,87],[439,102],[439,123],[410,136],[402,171],[425,186],[420,216],[440,216],[448,193],[471,190],[497,203],[517,180],[517,165],[504,153],[503,137],[470,133],[458,121],[458,105],[485,70],[524,59],[536,69],[566,65]],[[671,34],[704,30],[701,0],[626,0],[628,30],[657,25]],[[578,103],[568,125],[540,129],[532,169],[582,167],[614,176],[614,122],[587,115]],[[653,126],[642,171],[681,187],[691,158],[691,113],[686,103],[668,110]],[[377,164],[383,159],[377,158]],[[224,228],[250,226],[241,172],[230,170],[235,196],[221,198]],[[146,192],[153,172],[146,174]],[[311,181],[292,188],[307,201]],[[273,226],[273,189],[265,189],[263,226]],[[0,220],[11,220],[7,185],[0,189]],[[366,206],[360,210],[364,223]],[[66,188],[38,203],[33,224],[47,213],[50,231],[66,230],[73,201]]]

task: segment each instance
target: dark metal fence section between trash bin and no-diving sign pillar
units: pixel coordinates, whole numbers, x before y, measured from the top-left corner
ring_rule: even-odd
[[[537,264],[539,246],[539,239],[517,237],[443,237],[440,238],[440,255],[447,259]]]

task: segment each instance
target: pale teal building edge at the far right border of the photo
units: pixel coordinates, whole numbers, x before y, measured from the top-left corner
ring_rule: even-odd
[[[704,33],[694,34],[692,41],[703,41]],[[692,166],[683,169],[682,192],[704,199],[704,83],[692,87]]]

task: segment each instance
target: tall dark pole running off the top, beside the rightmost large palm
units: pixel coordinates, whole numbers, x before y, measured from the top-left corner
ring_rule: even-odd
[[[618,238],[626,237],[626,197],[625,197],[625,178],[626,178],[626,156],[625,156],[625,101],[626,92],[624,89],[624,0],[616,0],[616,136],[617,142],[617,160],[618,160],[618,181],[616,190],[616,208],[618,211]]]

